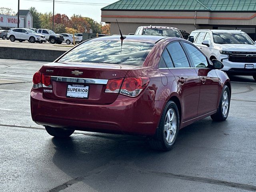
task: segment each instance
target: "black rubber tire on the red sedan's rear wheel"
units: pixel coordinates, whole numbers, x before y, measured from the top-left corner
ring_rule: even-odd
[[[172,114],[170,116],[171,119],[176,117],[175,118],[176,132],[174,134],[170,134],[170,132],[169,132],[170,136],[172,135],[172,139],[170,140],[170,142],[167,141],[168,134],[164,128],[165,127],[164,125],[168,122],[167,113],[169,112],[169,110],[171,110],[173,113],[175,113],[175,116],[174,116],[174,114]],[[171,127],[174,126],[174,121],[172,121],[172,122],[170,121],[169,123],[171,124]],[[162,150],[162,151],[171,150],[174,147],[174,144],[177,140],[179,128],[180,128],[180,115],[179,115],[178,107],[175,104],[175,102],[169,101],[164,108],[163,114],[160,119],[159,126],[156,131],[156,135],[154,136],[154,138],[152,138],[152,140],[149,141],[151,148],[155,149],[155,150]]]

